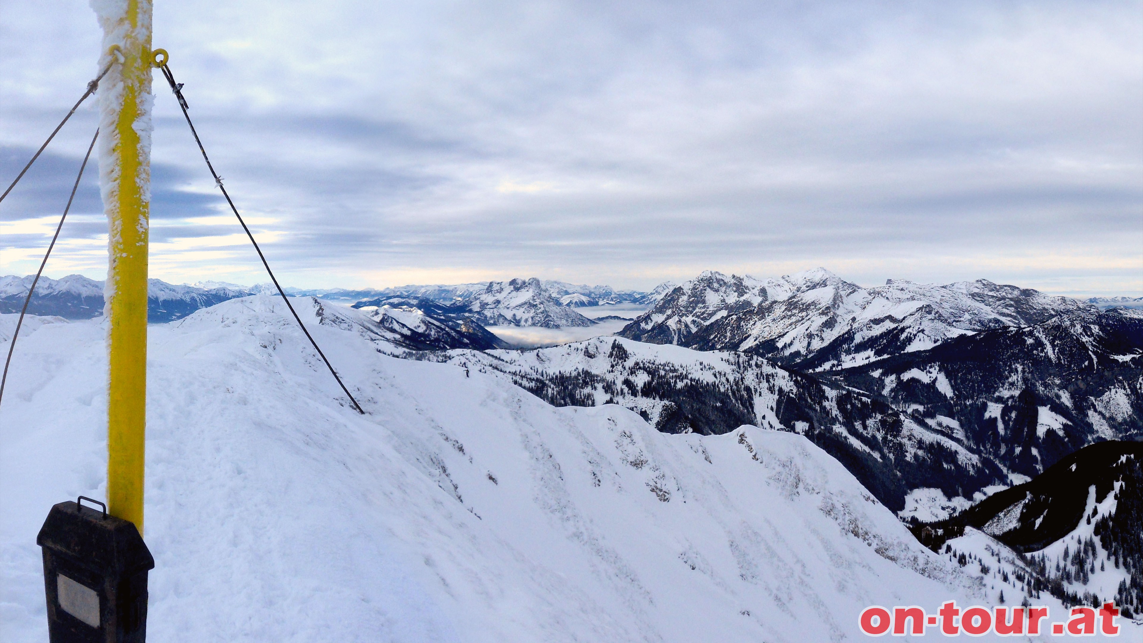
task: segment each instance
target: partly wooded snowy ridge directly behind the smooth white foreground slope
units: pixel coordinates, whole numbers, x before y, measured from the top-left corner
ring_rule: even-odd
[[[797,432],[894,510],[914,489],[972,497],[1008,482],[991,454],[964,435],[748,354],[597,338],[528,351],[417,357],[498,373],[558,406],[620,404],[664,432],[719,435],[744,423]]]

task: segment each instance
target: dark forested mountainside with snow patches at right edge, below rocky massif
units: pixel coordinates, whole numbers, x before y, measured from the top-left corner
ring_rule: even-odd
[[[1080,310],[821,376],[1034,476],[1095,440],[1143,438],[1143,313]]]

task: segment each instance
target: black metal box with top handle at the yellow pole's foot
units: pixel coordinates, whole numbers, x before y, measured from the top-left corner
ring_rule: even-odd
[[[50,643],[146,640],[146,574],[154,558],[134,523],[79,500],[61,502],[35,543],[43,548]]]

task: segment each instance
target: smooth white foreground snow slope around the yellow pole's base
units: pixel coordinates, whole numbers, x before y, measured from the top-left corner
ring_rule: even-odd
[[[866,605],[984,598],[801,436],[555,408],[296,307],[367,415],[277,297],[151,328],[150,641],[841,641]],[[46,637],[48,508],[104,489],[105,331],[30,327],[0,408],[6,643]]]

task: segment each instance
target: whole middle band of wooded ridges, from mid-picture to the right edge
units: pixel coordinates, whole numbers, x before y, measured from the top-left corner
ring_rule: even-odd
[[[668,432],[796,431],[900,510],[916,489],[972,499],[1093,442],[1143,437],[1141,354],[1137,313],[1081,310],[830,373],[606,338],[429,358],[504,373],[555,405],[617,403]]]

